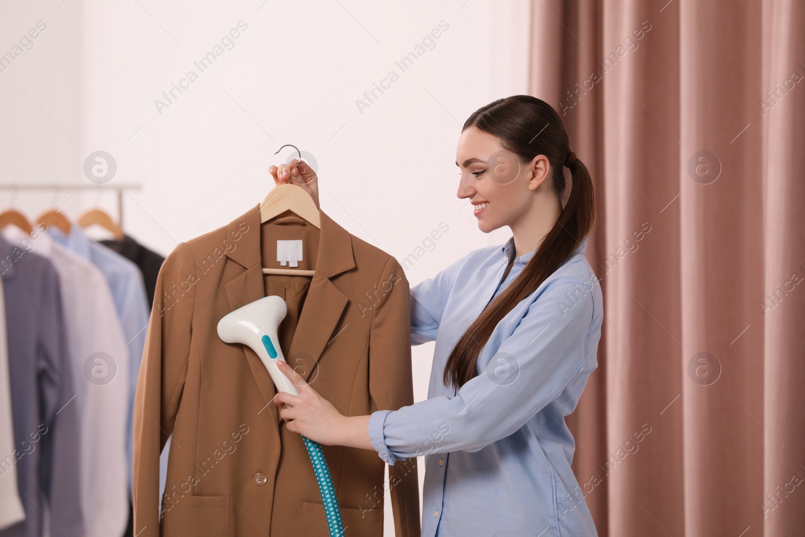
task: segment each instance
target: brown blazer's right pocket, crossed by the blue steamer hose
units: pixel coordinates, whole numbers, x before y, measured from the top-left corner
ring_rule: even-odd
[[[341,507],[345,537],[382,537],[382,509],[347,509]],[[299,502],[296,511],[297,537],[328,537],[327,516],[320,503]]]

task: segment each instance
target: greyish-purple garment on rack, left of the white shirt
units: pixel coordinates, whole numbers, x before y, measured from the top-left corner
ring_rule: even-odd
[[[17,484],[26,519],[0,537],[84,535],[78,406],[58,275],[51,262],[0,235]],[[5,455],[5,454],[3,454]],[[13,462],[12,462],[13,461]],[[0,476],[2,479],[2,476]],[[43,509],[50,506],[49,520]]]

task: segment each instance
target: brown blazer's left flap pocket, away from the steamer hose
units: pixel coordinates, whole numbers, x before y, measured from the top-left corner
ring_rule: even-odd
[[[229,496],[191,496],[177,498],[162,519],[163,537],[229,535]]]

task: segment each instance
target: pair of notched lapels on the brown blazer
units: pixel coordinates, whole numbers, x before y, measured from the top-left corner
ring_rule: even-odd
[[[316,274],[313,275],[308,288],[291,348],[283,349],[288,363],[306,381],[311,378],[313,370],[318,371],[317,364],[321,354],[332,338],[336,337],[337,334],[333,333],[336,324],[349,303],[346,295],[338,290],[330,278],[355,267],[349,232],[325,213],[321,211],[319,213],[321,229],[316,256]],[[248,225],[245,233],[242,231],[244,222]],[[224,284],[231,310],[265,296],[260,253],[259,204],[229,223],[230,236],[237,236],[233,233],[242,233],[242,238],[240,244],[228,252],[227,256],[243,266],[246,271]],[[276,405],[270,404],[277,393],[274,382],[257,353],[248,345],[241,346],[266,404],[261,412],[268,412],[271,419],[279,425],[279,411]],[[312,378],[315,380],[316,377]]]

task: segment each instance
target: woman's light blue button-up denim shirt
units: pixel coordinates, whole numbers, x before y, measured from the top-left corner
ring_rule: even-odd
[[[427,400],[376,411],[369,436],[383,461],[425,456],[423,537],[597,535],[571,469],[564,422],[597,367],[601,286],[578,248],[494,328],[477,376],[442,384],[458,338],[534,252],[514,238],[474,250],[411,288],[411,341],[436,340]]]

